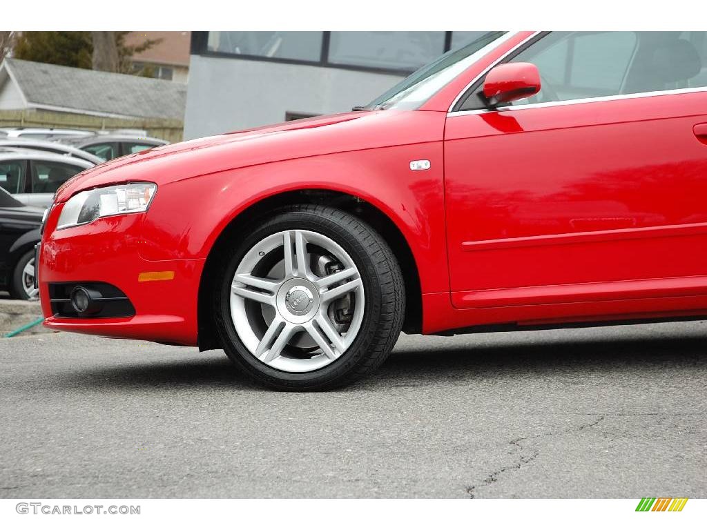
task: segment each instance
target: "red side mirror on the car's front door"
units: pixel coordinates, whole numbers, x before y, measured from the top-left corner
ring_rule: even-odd
[[[540,91],[540,73],[531,63],[506,63],[486,74],[484,97],[491,107],[530,98]]]

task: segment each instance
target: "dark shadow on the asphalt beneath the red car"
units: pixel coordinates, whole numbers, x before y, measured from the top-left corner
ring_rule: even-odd
[[[443,340],[443,339],[442,339]],[[222,351],[189,355],[185,360],[149,360],[129,366],[71,372],[71,387],[129,389],[140,387],[231,387],[261,390],[238,372]],[[373,387],[418,387],[473,384],[474,381],[556,375],[576,377],[621,370],[656,367],[690,370],[707,366],[707,333],[687,338],[581,338],[501,344],[427,347],[402,346],[363,382],[339,391],[361,391]],[[65,376],[66,377],[66,376]]]

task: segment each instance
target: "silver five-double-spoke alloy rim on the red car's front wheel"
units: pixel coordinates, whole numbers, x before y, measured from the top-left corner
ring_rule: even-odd
[[[341,357],[361,329],[363,305],[354,260],[309,230],[258,242],[231,283],[235,332],[255,358],[284,372],[319,370]]]

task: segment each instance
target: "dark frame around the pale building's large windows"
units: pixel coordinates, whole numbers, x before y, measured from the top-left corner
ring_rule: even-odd
[[[452,45],[452,32],[444,32],[444,49],[440,55],[450,50]],[[243,59],[246,61],[262,61],[269,63],[281,64],[302,64],[305,66],[318,66],[320,68],[335,68],[339,70],[353,70],[370,73],[387,73],[394,76],[409,76],[416,69],[397,69],[397,68],[378,68],[376,66],[362,66],[356,64],[339,64],[329,62],[329,43],[331,42],[332,32],[322,32],[322,52],[318,61],[305,61],[303,59],[283,59],[280,57],[262,57],[261,55],[249,54],[232,54],[228,52],[213,52],[209,51],[209,32],[208,31],[192,31],[192,40],[189,53],[192,55],[201,55],[203,57],[222,57],[226,59]],[[423,65],[420,65],[423,66]]]

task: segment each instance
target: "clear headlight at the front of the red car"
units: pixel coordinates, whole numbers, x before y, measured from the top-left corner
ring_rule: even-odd
[[[156,191],[157,184],[151,182],[87,189],[66,201],[57,229],[85,225],[101,217],[146,211]]]

